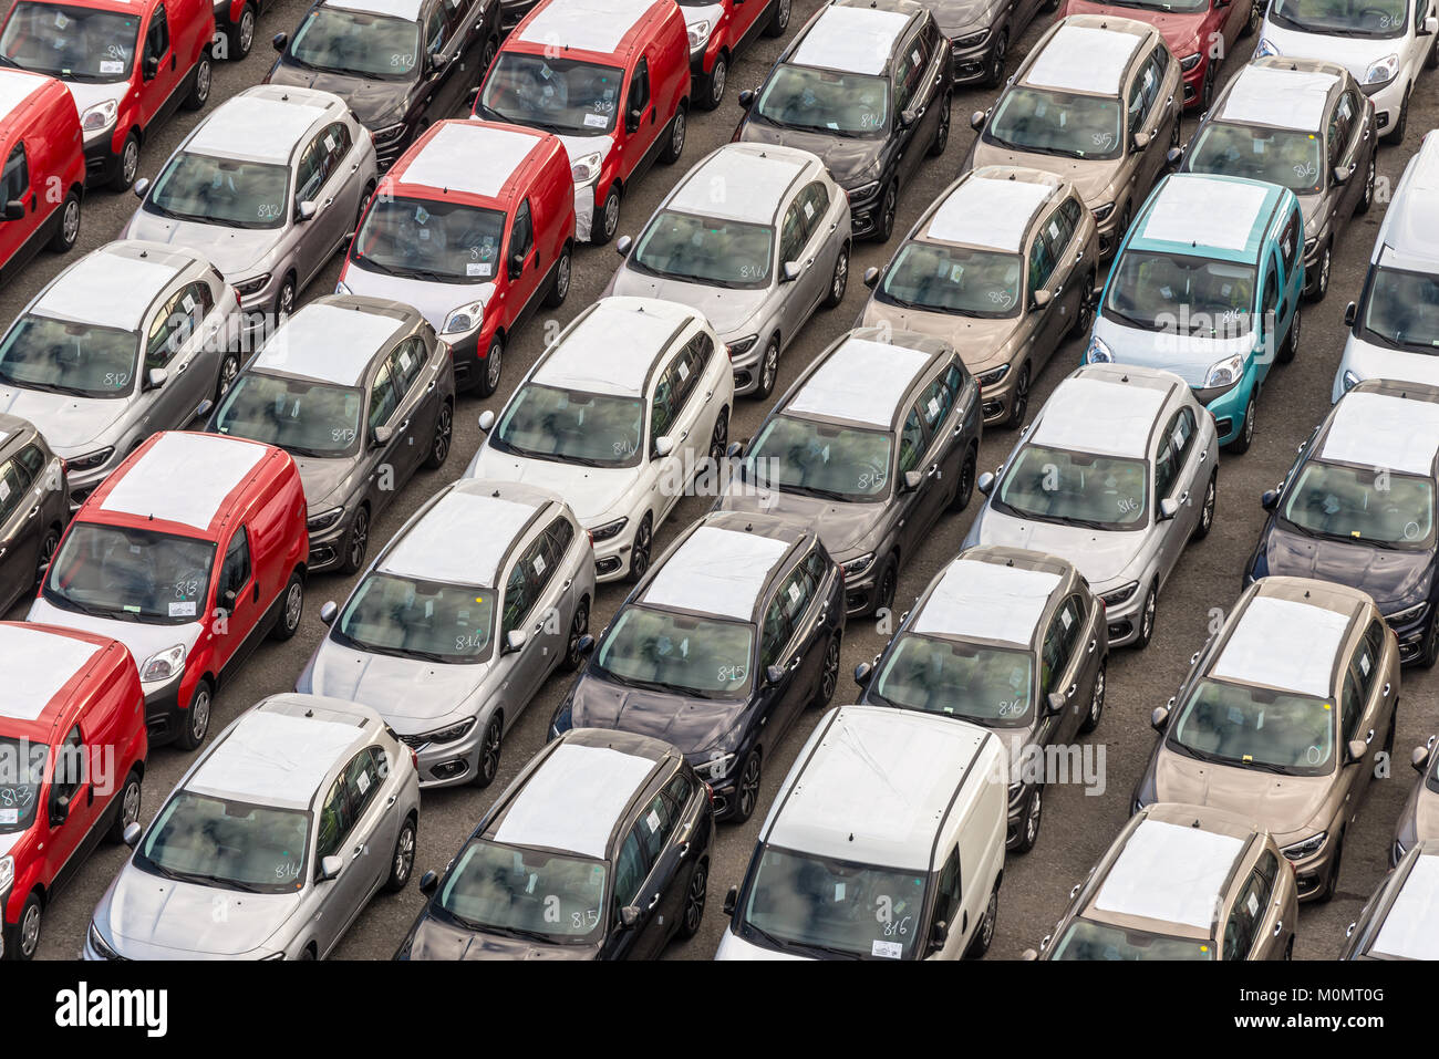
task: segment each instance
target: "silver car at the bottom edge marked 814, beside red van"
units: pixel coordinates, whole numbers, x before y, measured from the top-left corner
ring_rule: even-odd
[[[317,960],[414,868],[414,755],[373,709],[272,695],[180,780],[91,919],[86,960]]]

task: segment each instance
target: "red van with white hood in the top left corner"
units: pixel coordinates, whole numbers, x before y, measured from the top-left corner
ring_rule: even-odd
[[[135,183],[140,145],[210,98],[212,0],[16,0],[0,55],[59,78],[75,96],[91,186]]]

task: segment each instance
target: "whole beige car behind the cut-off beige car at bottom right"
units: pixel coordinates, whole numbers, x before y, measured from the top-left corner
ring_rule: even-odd
[[[1265,577],[1194,653],[1134,809],[1189,801],[1271,832],[1301,901],[1328,901],[1344,833],[1393,750],[1399,643],[1357,588]]]

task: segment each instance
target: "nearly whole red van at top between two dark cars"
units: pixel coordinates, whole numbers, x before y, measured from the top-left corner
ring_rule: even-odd
[[[758,4],[760,0],[745,0]],[[557,132],[574,176],[576,232],[606,243],[630,181],[685,150],[689,37],[675,0],[545,0],[515,26],[475,117]]]

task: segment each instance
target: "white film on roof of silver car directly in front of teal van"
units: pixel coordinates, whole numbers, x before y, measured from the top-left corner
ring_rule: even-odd
[[[1166,393],[1108,378],[1066,378],[1045,401],[1035,445],[1095,456],[1143,458]]]

